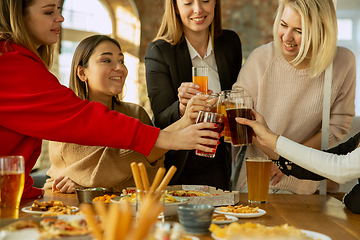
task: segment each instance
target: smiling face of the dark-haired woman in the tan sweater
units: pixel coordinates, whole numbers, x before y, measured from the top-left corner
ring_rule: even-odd
[[[114,95],[122,92],[128,74],[124,55],[111,41],[103,41],[95,47],[83,70],[89,85],[89,100],[107,106]]]

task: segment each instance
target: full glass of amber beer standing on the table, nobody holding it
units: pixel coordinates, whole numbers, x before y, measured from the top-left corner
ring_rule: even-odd
[[[247,157],[246,173],[250,203],[266,203],[269,195],[272,161],[267,157]]]

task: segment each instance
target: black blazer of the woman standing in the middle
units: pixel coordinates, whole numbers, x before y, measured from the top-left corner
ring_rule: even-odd
[[[214,54],[221,89],[231,89],[242,63],[239,36],[231,30],[223,30],[222,34],[214,39]],[[164,40],[150,43],[146,49],[145,66],[154,124],[163,129],[180,119],[178,88],[182,82],[192,81],[192,63],[186,41],[176,45]],[[198,157],[194,150],[169,151],[166,154],[165,166],[169,168],[175,165],[178,168],[171,184],[211,185],[221,182],[217,187],[228,189],[231,174],[230,149],[229,144],[223,143],[221,139],[214,159]],[[211,176],[214,174],[216,176]],[[217,177],[222,179],[215,181],[213,178]],[[224,186],[225,183],[227,187]]]

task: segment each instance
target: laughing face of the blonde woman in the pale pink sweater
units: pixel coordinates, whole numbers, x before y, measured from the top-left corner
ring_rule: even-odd
[[[285,59],[292,61],[299,53],[302,37],[301,16],[292,7],[284,8],[278,36]]]

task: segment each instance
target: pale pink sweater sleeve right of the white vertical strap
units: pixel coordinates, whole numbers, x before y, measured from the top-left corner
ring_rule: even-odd
[[[341,82],[330,109],[329,145],[340,141],[349,133],[352,117],[355,116],[356,61],[346,48],[338,48],[333,67],[333,82]]]

